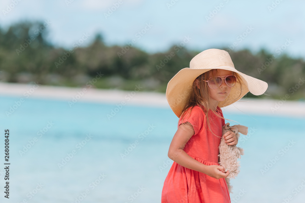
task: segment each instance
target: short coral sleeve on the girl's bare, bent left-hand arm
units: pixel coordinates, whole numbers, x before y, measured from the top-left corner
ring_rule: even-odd
[[[183,119],[182,119],[182,117],[179,119],[178,127],[182,123],[189,122],[190,124],[192,124],[192,126],[194,128],[194,131],[195,131],[194,135],[197,135],[199,130],[203,126],[203,120],[204,120],[203,111],[200,109],[200,107],[195,106],[192,109],[189,108],[188,110],[186,110]]]

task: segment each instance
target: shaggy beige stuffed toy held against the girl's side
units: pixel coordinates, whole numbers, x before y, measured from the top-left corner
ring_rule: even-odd
[[[224,135],[228,131],[233,131],[237,138],[239,138],[239,133],[243,135],[247,135],[248,127],[243,125],[233,125],[230,126],[229,123],[226,123],[222,128],[222,135]],[[230,179],[235,178],[239,173],[239,161],[241,155],[244,155],[244,150],[236,145],[227,145],[224,142],[224,138],[221,138],[219,145],[219,165],[224,166],[225,171],[229,170],[230,174],[225,178],[229,193],[232,193],[233,187],[230,185]]]

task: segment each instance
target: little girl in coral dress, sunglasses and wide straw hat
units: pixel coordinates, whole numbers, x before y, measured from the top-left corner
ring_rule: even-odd
[[[232,131],[222,135],[225,121],[220,107],[249,91],[261,95],[267,87],[237,71],[228,52],[219,49],[199,53],[190,68],[168,82],[166,98],[179,121],[168,150],[174,163],[164,181],[162,203],[231,202],[224,179],[230,171],[219,166],[218,147],[222,136],[228,145],[238,140]]]

